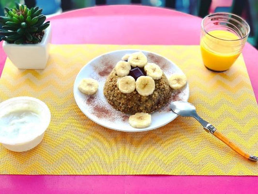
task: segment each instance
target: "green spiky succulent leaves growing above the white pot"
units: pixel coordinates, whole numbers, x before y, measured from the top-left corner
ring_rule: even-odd
[[[41,14],[42,9],[29,9],[26,5],[19,4],[14,9],[4,9],[6,16],[0,16],[2,40],[15,44],[36,44],[41,41],[44,30],[49,26],[49,21],[45,22],[46,16]]]

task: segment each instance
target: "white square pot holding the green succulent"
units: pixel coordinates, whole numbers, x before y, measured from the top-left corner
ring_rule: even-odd
[[[3,41],[3,50],[19,69],[44,69],[48,60],[51,37],[52,30],[49,25],[40,43],[16,45]]]

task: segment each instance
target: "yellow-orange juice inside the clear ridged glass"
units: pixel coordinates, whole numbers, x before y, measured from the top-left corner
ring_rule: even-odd
[[[214,71],[228,70],[241,53],[240,38],[232,32],[214,30],[200,41],[204,65]]]

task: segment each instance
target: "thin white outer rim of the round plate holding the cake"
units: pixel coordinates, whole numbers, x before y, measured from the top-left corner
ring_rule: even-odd
[[[155,52],[148,51],[148,50],[142,50],[142,49],[118,49],[118,50],[113,50],[113,51],[110,51],[110,52],[103,53],[103,54],[98,55],[98,56],[94,57],[93,59],[91,59],[87,64],[85,64],[85,65],[80,69],[80,71],[79,71],[79,72],[77,73],[77,75],[76,75],[76,78],[75,78],[75,81],[74,81],[73,95],[74,95],[74,99],[75,99],[75,101],[76,101],[76,105],[77,105],[77,107],[80,109],[80,111],[81,111],[86,117],[88,117],[89,119],[91,119],[91,121],[97,123],[98,125],[100,125],[100,126],[102,126],[102,127],[105,127],[105,128],[107,128],[107,129],[117,130],[117,131],[123,131],[123,132],[143,132],[143,131],[154,130],[154,129],[161,128],[161,127],[167,125],[168,123],[170,123],[171,121],[175,120],[175,119],[178,117],[178,115],[177,115],[176,113],[174,113],[174,117],[172,116],[172,119],[171,119],[171,120],[169,119],[167,122],[164,122],[164,123],[163,123],[162,125],[160,125],[159,127],[154,127],[154,128],[133,128],[133,129],[135,129],[135,130],[123,130],[123,129],[112,128],[112,127],[110,127],[110,126],[106,126],[106,125],[102,124],[102,123],[99,122],[98,120],[96,121],[96,119],[94,119],[93,117],[91,117],[91,114],[85,113],[85,111],[80,108],[80,106],[79,106],[79,104],[78,104],[78,103],[79,103],[79,102],[78,102],[78,99],[76,99],[76,95],[75,95],[75,94],[76,94],[76,91],[77,91],[77,89],[78,89],[78,88],[76,87],[75,82],[76,82],[78,76],[80,75],[81,71],[83,71],[84,68],[85,68],[87,65],[89,65],[90,63],[92,63],[93,61],[95,61],[97,58],[100,58],[100,57],[102,57],[102,56],[104,56],[104,55],[107,55],[107,54],[110,54],[110,53],[113,53],[113,52],[118,52],[118,51],[142,51],[142,52],[152,53],[152,54],[155,54],[155,55],[157,55],[157,56],[159,56],[159,57],[162,57],[162,58],[166,59],[167,61],[169,61],[171,64],[175,65],[176,67],[178,67],[178,68],[182,71],[182,69],[181,69],[178,65],[176,65],[173,61],[167,59],[166,57],[164,57],[164,56],[162,56],[162,55],[160,55],[160,54],[157,54],[157,53],[155,53]],[[183,71],[182,71],[182,73],[184,74]],[[184,74],[184,75],[185,75],[185,74]],[[187,81],[185,87],[186,87],[186,89],[188,89],[188,91],[187,91],[187,96],[186,96],[186,101],[188,101],[188,100],[189,100],[189,96],[190,96],[190,90],[189,90],[189,83],[188,83],[188,81]],[[155,112],[153,112],[153,113],[155,113]],[[151,113],[151,114],[152,114],[152,113]]]

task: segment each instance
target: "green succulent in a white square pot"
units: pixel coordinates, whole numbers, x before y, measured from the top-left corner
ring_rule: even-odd
[[[51,41],[50,22],[38,7],[16,4],[0,16],[3,49],[19,69],[44,69]]]

